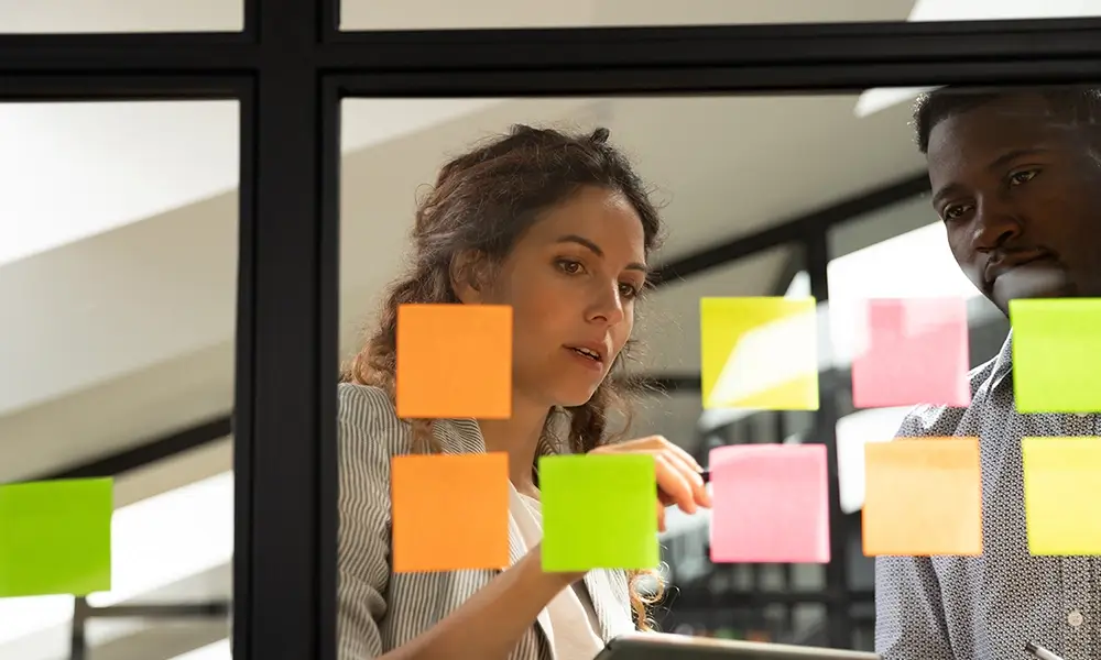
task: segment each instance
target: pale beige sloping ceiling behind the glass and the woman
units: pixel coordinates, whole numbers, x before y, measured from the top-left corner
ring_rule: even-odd
[[[880,20],[905,18],[909,4],[478,0],[465,2],[460,16],[439,0],[348,0],[345,24]],[[374,12],[380,7],[385,11]],[[239,15],[239,3],[219,0],[96,0],[80,3],[80,12],[59,0],[0,0],[8,32],[233,30]],[[342,350],[353,350],[357,329],[370,322],[402,263],[418,187],[471,142],[514,122],[610,127],[667,202],[669,240],[658,256],[668,260],[919,170],[904,105],[863,119],[854,105],[855,97],[348,101]],[[8,182],[0,196],[0,482],[229,410],[237,141],[233,103],[0,106],[0,173]],[[651,340],[647,371],[695,371],[698,298],[771,293],[789,254],[777,249],[655,292],[641,331]],[[698,409],[695,395],[655,399],[636,428],[687,442],[676,436],[691,429]],[[120,484],[119,505],[229,465],[229,444],[221,443],[133,474]],[[194,646],[209,636],[196,634]],[[56,657],[35,648],[20,647],[19,657]],[[0,642],[0,656],[8,650]]]

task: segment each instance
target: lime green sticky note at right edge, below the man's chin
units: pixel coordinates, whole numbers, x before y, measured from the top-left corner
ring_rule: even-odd
[[[1101,413],[1101,298],[1010,300],[1018,413]]]

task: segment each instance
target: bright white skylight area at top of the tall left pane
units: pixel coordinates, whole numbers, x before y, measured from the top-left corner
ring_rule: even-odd
[[[236,101],[0,105],[0,265],[238,185]]]

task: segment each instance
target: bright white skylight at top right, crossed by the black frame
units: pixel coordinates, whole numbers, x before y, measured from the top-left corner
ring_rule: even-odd
[[[917,0],[907,20],[998,21],[1013,19],[1066,19],[1101,15],[1098,0]],[[857,99],[857,117],[868,117],[891,106],[913,101],[923,91],[935,87],[869,89]]]

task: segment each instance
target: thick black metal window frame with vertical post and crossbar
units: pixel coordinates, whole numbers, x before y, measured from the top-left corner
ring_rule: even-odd
[[[336,658],[341,98],[1101,78],[1101,21],[1084,19],[341,33],[336,0],[244,0],[244,14],[236,34],[0,36],[0,101],[240,101],[233,652],[257,660]],[[806,229],[814,246],[806,234],[787,238],[807,245],[822,295],[824,234]],[[824,405],[821,428],[832,428],[831,411]],[[848,632],[831,618],[832,644],[848,645]]]

